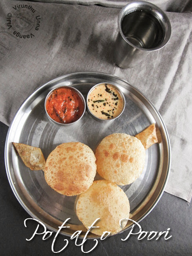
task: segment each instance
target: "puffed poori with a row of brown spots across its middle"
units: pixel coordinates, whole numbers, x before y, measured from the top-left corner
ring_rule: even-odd
[[[95,156],[98,174],[118,185],[134,182],[145,163],[141,141],[124,133],[106,136],[96,148]]]

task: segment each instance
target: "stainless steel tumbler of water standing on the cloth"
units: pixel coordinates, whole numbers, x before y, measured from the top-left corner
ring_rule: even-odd
[[[146,1],[130,2],[118,15],[114,62],[120,68],[136,66],[150,52],[164,47],[171,25],[166,14]]]

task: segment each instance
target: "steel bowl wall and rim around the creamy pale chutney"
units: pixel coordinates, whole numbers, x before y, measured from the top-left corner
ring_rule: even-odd
[[[106,84],[108,84],[108,85],[110,85],[110,86],[113,86],[113,87],[118,91],[118,93],[120,94],[120,96],[121,96],[121,98],[122,98],[122,100],[123,100],[123,107],[122,107],[122,111],[120,112],[120,114],[119,114],[118,116],[116,116],[116,117],[114,117],[114,118],[110,118],[110,119],[101,119],[101,118],[98,118],[97,116],[95,116],[95,115],[90,111],[90,109],[89,109],[89,107],[88,107],[88,98],[89,98],[89,95],[90,95],[90,93],[92,92],[92,90],[94,90],[97,86],[106,85]],[[100,121],[100,122],[109,122],[109,121],[112,121],[112,120],[118,118],[118,117],[123,113],[123,111],[124,111],[124,109],[125,109],[125,96],[124,96],[124,94],[122,93],[122,91],[121,91],[116,85],[110,84],[110,83],[108,83],[108,82],[102,82],[102,83],[100,83],[100,84],[96,84],[95,86],[93,86],[93,87],[89,90],[89,92],[88,92],[88,94],[87,94],[86,104],[87,104],[87,111],[88,111],[88,113],[89,113],[95,120]]]

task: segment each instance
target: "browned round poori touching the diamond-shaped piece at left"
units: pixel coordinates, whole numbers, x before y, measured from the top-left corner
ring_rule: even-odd
[[[60,194],[81,194],[93,183],[96,174],[95,161],[91,148],[81,142],[60,144],[46,160],[45,180]]]

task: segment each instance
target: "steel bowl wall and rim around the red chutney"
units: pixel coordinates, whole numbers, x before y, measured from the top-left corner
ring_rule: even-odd
[[[52,92],[54,92],[55,90],[58,90],[58,89],[60,89],[60,88],[68,88],[68,89],[74,90],[74,92],[76,92],[76,93],[80,96],[80,98],[82,99],[82,102],[83,102],[83,104],[84,104],[84,110],[83,110],[82,115],[81,115],[75,122],[68,123],[68,124],[56,122],[55,120],[53,120],[53,119],[49,116],[49,114],[48,114],[48,112],[47,112],[47,110],[46,110],[46,102],[47,102],[49,96],[52,94]],[[54,122],[55,124],[59,124],[59,125],[61,125],[61,126],[63,126],[63,125],[64,125],[64,126],[69,126],[69,125],[74,124],[74,123],[76,123],[77,121],[79,121],[79,120],[82,118],[82,116],[84,115],[85,109],[86,109],[86,103],[85,103],[84,96],[82,95],[82,93],[81,93],[79,90],[77,90],[76,88],[74,88],[74,87],[72,87],[72,86],[58,86],[58,87],[52,89],[52,90],[47,94],[47,96],[46,96],[45,105],[44,105],[44,106],[45,106],[45,112],[46,112],[46,114],[47,114],[49,120],[51,120],[51,121]]]

